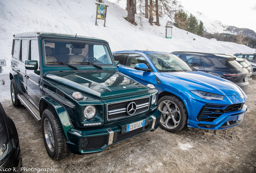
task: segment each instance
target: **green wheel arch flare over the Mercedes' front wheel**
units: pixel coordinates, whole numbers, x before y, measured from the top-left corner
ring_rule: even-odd
[[[72,124],[70,123],[67,110],[62,104],[60,104],[58,101],[56,101],[52,97],[44,96],[44,97],[41,97],[39,101],[40,116],[43,113],[45,104],[49,105],[50,107],[52,107],[52,109],[54,109],[54,111],[56,112],[57,118],[60,122],[60,126],[62,127],[63,134],[66,140],[69,140],[68,131],[72,128]]]

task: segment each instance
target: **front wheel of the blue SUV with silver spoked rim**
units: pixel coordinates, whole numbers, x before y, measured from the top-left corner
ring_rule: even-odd
[[[158,101],[161,111],[160,126],[162,129],[176,133],[187,126],[188,113],[184,103],[175,96],[164,96]]]

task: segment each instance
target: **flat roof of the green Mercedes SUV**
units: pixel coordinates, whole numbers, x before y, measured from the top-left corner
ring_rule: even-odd
[[[85,38],[85,39],[93,39],[98,41],[105,41],[101,40],[99,38],[93,38],[88,36],[78,36],[78,35],[72,35],[72,34],[60,34],[60,33],[54,33],[54,32],[24,32],[19,34],[14,34],[14,37],[37,37],[37,36],[57,36],[57,37],[69,37],[69,38]],[[106,41],[105,41],[106,42]]]

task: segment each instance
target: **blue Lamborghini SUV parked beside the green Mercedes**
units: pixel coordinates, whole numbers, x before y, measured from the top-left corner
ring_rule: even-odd
[[[165,52],[127,50],[113,52],[118,70],[159,91],[160,126],[176,133],[185,127],[226,129],[244,119],[247,100],[233,82],[195,70]]]

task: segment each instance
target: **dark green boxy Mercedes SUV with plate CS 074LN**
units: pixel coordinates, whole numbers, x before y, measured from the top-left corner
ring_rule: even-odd
[[[159,126],[158,93],[118,72],[108,42],[68,34],[14,34],[10,91],[41,121],[46,151],[99,152]]]

